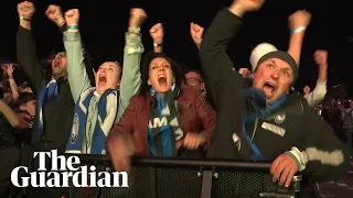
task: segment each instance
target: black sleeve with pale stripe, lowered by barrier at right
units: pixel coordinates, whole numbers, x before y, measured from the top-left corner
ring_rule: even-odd
[[[304,103],[306,125],[300,141],[303,174],[317,182],[334,180],[346,173],[350,154],[332,128]]]

